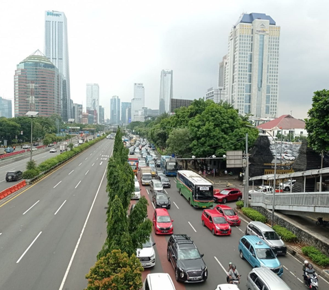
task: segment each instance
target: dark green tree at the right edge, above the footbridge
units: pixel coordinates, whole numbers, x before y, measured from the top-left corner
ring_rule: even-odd
[[[329,90],[317,90],[313,95],[312,108],[305,119],[307,143],[315,152],[329,150]]]

